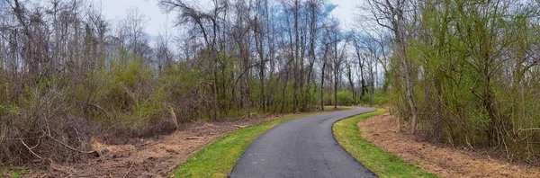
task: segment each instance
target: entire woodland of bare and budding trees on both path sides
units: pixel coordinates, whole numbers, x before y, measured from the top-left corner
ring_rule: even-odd
[[[71,162],[196,121],[381,105],[400,128],[536,162],[540,3],[157,0],[109,20],[84,0],[2,0],[0,165]]]

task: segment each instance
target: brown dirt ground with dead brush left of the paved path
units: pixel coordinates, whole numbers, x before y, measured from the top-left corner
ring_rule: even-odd
[[[80,164],[51,165],[49,174],[25,177],[166,177],[197,150],[239,128],[277,120],[287,115],[229,122],[201,122],[158,138],[139,139],[130,145],[104,145],[94,140],[102,156]],[[130,141],[132,142],[132,141]]]

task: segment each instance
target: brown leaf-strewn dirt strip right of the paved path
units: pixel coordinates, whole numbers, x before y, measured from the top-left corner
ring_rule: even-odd
[[[418,141],[397,131],[397,119],[388,113],[363,120],[358,127],[362,137],[377,147],[418,164],[423,170],[442,177],[540,177],[540,167],[519,165],[482,155]]]

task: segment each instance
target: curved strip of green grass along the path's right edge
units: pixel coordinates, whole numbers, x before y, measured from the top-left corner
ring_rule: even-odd
[[[358,162],[379,177],[437,177],[437,175],[423,172],[419,167],[385,152],[380,147],[375,147],[360,137],[362,130],[358,129],[358,122],[381,115],[384,112],[386,111],[378,110],[340,120],[332,127],[334,137],[338,140],[339,145],[344,147]]]

